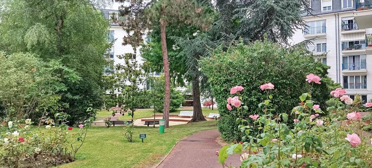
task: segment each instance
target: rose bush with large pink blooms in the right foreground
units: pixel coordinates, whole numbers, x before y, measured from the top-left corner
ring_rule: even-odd
[[[230,113],[237,113],[236,123],[240,130],[243,142],[224,146],[218,152],[219,162],[225,166],[228,155],[237,153],[241,155],[241,168],[276,167],[276,168],[349,168],[372,166],[372,139],[361,135],[362,128],[360,114],[350,112],[348,120],[343,122],[339,117],[321,117],[324,113],[318,104],[312,100],[311,89],[314,84],[320,84],[321,78],[310,74],[306,81],[311,87],[308,93],[299,97],[298,106],[291,110],[294,123],[289,126],[289,116],[270,106],[275,99],[272,95],[274,88],[261,85],[266,94],[266,100],[258,104],[263,107],[263,114],[250,115],[245,119],[242,113],[249,107],[245,106],[247,97],[239,96],[244,90],[237,91],[240,106],[231,106]],[[275,83],[273,83],[275,85]],[[258,88],[257,88],[258,89]],[[334,106],[327,110],[350,109],[350,100],[340,97],[345,94],[341,88],[331,92]],[[227,104],[232,104],[229,98]],[[352,100],[351,100],[352,101]],[[352,110],[352,109],[350,109]],[[269,113],[270,112],[270,113]],[[249,122],[252,120],[253,122]],[[293,127],[293,129],[290,129]],[[252,134],[260,130],[259,135]]]

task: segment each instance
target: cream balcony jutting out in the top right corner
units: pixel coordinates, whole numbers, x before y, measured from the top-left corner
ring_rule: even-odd
[[[359,29],[372,28],[372,0],[356,0],[356,10],[354,19],[358,23]]]

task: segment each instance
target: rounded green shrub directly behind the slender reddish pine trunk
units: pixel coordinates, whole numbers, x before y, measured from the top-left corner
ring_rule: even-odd
[[[151,90],[150,97],[153,101],[154,108],[157,111],[163,111],[164,109],[164,84],[165,78],[164,75],[160,77],[153,77],[151,80]],[[184,101],[184,97],[181,91],[176,90],[174,87],[170,89],[170,112],[174,112],[180,108],[181,104]]]

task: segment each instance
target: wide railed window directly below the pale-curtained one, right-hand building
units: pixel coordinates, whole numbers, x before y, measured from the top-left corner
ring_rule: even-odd
[[[366,75],[343,76],[343,87],[345,89],[366,89],[367,76]]]

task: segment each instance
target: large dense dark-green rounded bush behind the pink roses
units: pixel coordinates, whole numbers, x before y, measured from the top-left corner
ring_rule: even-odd
[[[266,100],[267,95],[257,90],[262,83],[270,81],[278,88],[272,93],[275,99],[270,113],[273,114],[291,111],[291,107],[298,103],[298,95],[311,87],[304,80],[310,72],[322,78],[322,83],[312,88],[312,100],[320,104],[321,108],[331,98],[327,93],[335,87],[334,82],[327,77],[329,67],[315,62],[304,48],[288,50],[268,41],[256,41],[249,46],[230,46],[226,52],[218,48],[212,54],[210,58],[201,59],[201,69],[208,76],[211,91],[220,105],[218,129],[222,137],[229,141],[239,140],[241,134],[235,123],[238,115],[222,105],[231,96],[231,87],[244,87],[245,92],[241,96],[248,107],[242,114],[244,118],[251,114],[263,114],[258,104]]]

